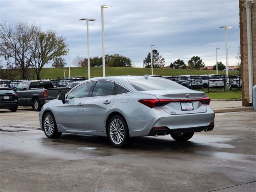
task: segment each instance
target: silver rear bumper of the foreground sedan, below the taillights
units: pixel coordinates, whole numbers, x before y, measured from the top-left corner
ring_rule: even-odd
[[[162,109],[150,111],[143,117],[126,119],[131,137],[150,136],[152,128],[156,127],[166,127],[168,134],[181,132],[181,130],[182,132],[199,132],[205,130],[210,122],[214,122],[215,117],[210,106],[207,106],[206,112],[194,114],[170,115]]]

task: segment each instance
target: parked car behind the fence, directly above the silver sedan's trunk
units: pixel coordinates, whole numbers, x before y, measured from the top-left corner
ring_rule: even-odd
[[[176,76],[173,81],[190,89],[199,89],[203,87],[202,78],[198,75],[179,75]]]

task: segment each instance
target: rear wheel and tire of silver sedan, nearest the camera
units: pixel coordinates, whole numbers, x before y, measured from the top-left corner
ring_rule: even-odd
[[[120,115],[113,116],[108,123],[108,138],[110,143],[117,148],[125,148],[132,145],[129,129],[124,118]]]

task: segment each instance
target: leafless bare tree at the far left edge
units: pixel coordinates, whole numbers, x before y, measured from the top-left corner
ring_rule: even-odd
[[[29,76],[30,62],[33,58],[30,47],[37,28],[39,26],[35,24],[29,26],[27,22],[0,23],[0,53],[2,56],[13,58],[15,68],[20,68],[23,79]]]

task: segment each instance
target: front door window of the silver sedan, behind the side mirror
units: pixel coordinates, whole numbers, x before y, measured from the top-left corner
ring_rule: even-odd
[[[94,82],[84,83],[70,92],[67,99],[84,98],[88,96]]]

